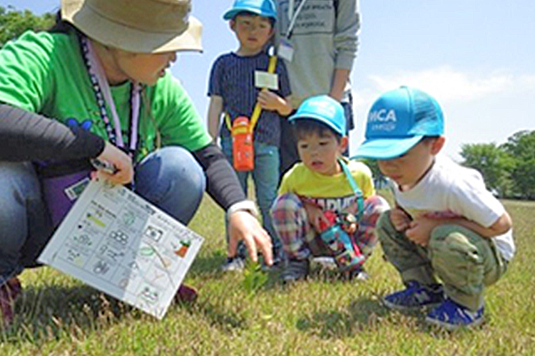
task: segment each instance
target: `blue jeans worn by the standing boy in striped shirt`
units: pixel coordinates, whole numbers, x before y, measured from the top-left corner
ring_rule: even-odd
[[[230,138],[221,140],[223,153],[233,162],[233,147]],[[254,142],[255,147],[255,168],[250,172],[236,172],[238,180],[242,185],[245,195],[248,194],[247,179],[251,175],[255,182],[255,194],[260,215],[262,216],[263,227],[270,234],[272,245],[275,251],[280,248],[280,241],[277,239],[273,224],[271,222],[270,208],[277,196],[277,187],[279,185],[279,149],[277,146],[266,145],[262,142]],[[228,229],[227,229],[228,230]],[[228,234],[227,234],[228,241]],[[245,248],[240,246],[239,253],[245,255]]]

